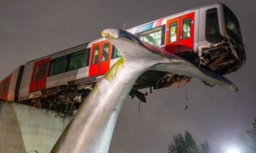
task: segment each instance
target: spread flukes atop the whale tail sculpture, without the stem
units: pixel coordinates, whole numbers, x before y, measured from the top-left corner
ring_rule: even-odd
[[[195,66],[162,48],[145,43],[127,31],[106,29],[102,31],[102,36],[120,50],[124,59],[127,59],[125,61],[134,62],[134,66],[147,63],[148,70],[168,71],[177,75],[195,77],[206,82],[222,85],[232,91],[238,91],[236,85],[218,73]]]

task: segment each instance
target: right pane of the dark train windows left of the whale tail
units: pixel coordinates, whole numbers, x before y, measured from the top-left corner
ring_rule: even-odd
[[[88,66],[88,50],[81,50],[79,52],[71,54],[69,70],[83,68]]]

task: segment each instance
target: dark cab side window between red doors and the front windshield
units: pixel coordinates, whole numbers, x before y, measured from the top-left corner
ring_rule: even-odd
[[[206,11],[205,39],[210,43],[218,43],[221,41],[217,8]]]

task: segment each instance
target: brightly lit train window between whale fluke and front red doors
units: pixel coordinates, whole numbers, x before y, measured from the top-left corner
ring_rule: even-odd
[[[156,27],[140,34],[140,40],[159,47],[162,40],[162,27]]]

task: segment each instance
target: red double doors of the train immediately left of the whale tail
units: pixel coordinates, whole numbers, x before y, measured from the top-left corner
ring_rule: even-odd
[[[111,45],[108,41],[93,43],[89,76],[102,75],[109,69]]]

